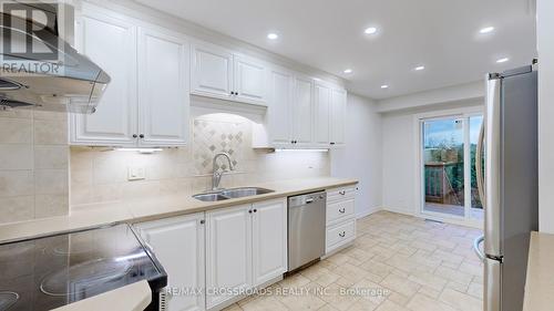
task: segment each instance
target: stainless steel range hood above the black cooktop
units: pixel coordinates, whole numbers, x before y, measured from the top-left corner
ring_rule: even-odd
[[[30,10],[29,4],[19,6]],[[72,7],[63,8],[64,18],[70,19],[63,22],[59,7],[40,10],[47,22],[7,12],[0,15],[0,108],[94,113],[110,76],[61,38],[60,27],[69,25],[72,31]],[[8,40],[12,45],[4,44]],[[45,53],[28,52],[29,46],[42,46]]]

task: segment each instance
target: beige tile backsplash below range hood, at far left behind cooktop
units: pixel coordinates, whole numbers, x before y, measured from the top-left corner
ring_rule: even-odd
[[[0,111],[0,224],[69,212],[64,113]]]

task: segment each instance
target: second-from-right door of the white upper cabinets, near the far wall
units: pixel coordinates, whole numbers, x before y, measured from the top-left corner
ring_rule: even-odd
[[[316,124],[315,141],[318,145],[329,145],[329,112],[331,104],[331,89],[322,84],[316,84]]]

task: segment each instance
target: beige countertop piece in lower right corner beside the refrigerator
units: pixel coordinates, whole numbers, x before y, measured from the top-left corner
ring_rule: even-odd
[[[554,305],[554,235],[531,232],[524,311],[550,311]]]

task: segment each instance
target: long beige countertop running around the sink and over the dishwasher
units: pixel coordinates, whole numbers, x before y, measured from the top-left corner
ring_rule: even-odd
[[[225,208],[240,204],[287,197],[302,193],[355,185],[355,179],[320,177],[259,183],[247,186],[275,190],[266,195],[227,199],[215,203],[199,201],[191,194],[110,201],[86,206],[72,206],[68,216],[14,222],[0,226],[0,242],[39,237],[68,230],[79,230],[114,222],[140,222],[165,217]]]

